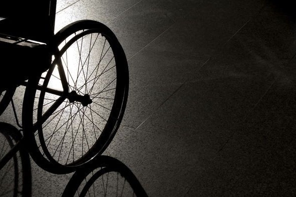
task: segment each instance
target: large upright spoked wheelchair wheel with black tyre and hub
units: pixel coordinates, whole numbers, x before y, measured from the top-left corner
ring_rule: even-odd
[[[128,65],[116,36],[100,22],[71,23],[54,38],[49,70],[28,81],[23,125],[35,161],[52,173],[67,173],[101,154],[117,132]]]

